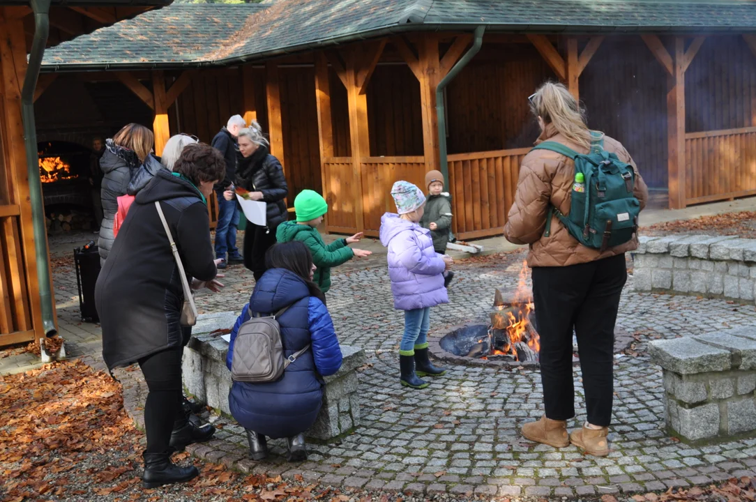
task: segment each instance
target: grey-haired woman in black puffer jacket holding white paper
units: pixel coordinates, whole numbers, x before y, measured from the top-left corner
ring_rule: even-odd
[[[268,152],[268,140],[260,125],[253,120],[249,128],[241,129],[238,136],[239,160],[237,185],[249,191],[249,198],[267,203],[267,225],[261,227],[246,222],[244,234],[244,266],[252,271],[255,280],[265,272],[265,252],[276,243],[276,229],[288,219],[286,203],[289,194],[283,168],[277,158]],[[227,190],[226,200],[234,199],[234,191]]]

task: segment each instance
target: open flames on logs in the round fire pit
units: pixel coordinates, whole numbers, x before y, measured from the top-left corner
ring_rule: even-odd
[[[541,340],[530,322],[533,299],[526,285],[527,279],[528,265],[523,262],[513,298],[502,299],[497,291],[494,299],[496,310],[491,312],[491,325],[488,327],[488,346],[491,348],[488,355],[509,356],[514,361],[520,361],[525,352],[538,357]],[[479,340],[479,343],[482,342],[482,339]],[[525,346],[529,350],[525,350]]]

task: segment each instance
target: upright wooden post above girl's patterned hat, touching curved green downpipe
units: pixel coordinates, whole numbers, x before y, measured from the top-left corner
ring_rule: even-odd
[[[435,91],[441,82],[438,38],[426,35],[420,41],[420,108],[423,116],[423,154],[426,172],[438,169],[438,114]]]

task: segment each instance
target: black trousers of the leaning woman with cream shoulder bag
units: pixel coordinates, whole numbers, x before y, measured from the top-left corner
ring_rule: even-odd
[[[144,404],[147,453],[167,453],[172,430],[178,423],[186,422],[181,408],[184,395],[181,386],[183,351],[183,347],[176,347],[138,361],[150,389]]]

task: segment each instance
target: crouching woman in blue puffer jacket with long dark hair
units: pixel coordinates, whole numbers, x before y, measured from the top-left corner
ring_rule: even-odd
[[[307,450],[302,432],[318,417],[323,401],[321,376],[333,375],[341,367],[339,339],[333,330],[324,296],[312,281],[315,266],[307,246],[299,241],[279,243],[265,254],[268,268],[255,286],[248,305],[231,330],[226,365],[231,369],[234,342],[249,312],[269,315],[287,307],[277,318],[283,355],[288,358],[310,345],[275,382],[234,382],[228,402],[234,419],[246,429],[249,457],[268,456],[268,438],[287,438],[290,461],[305,460]]]

